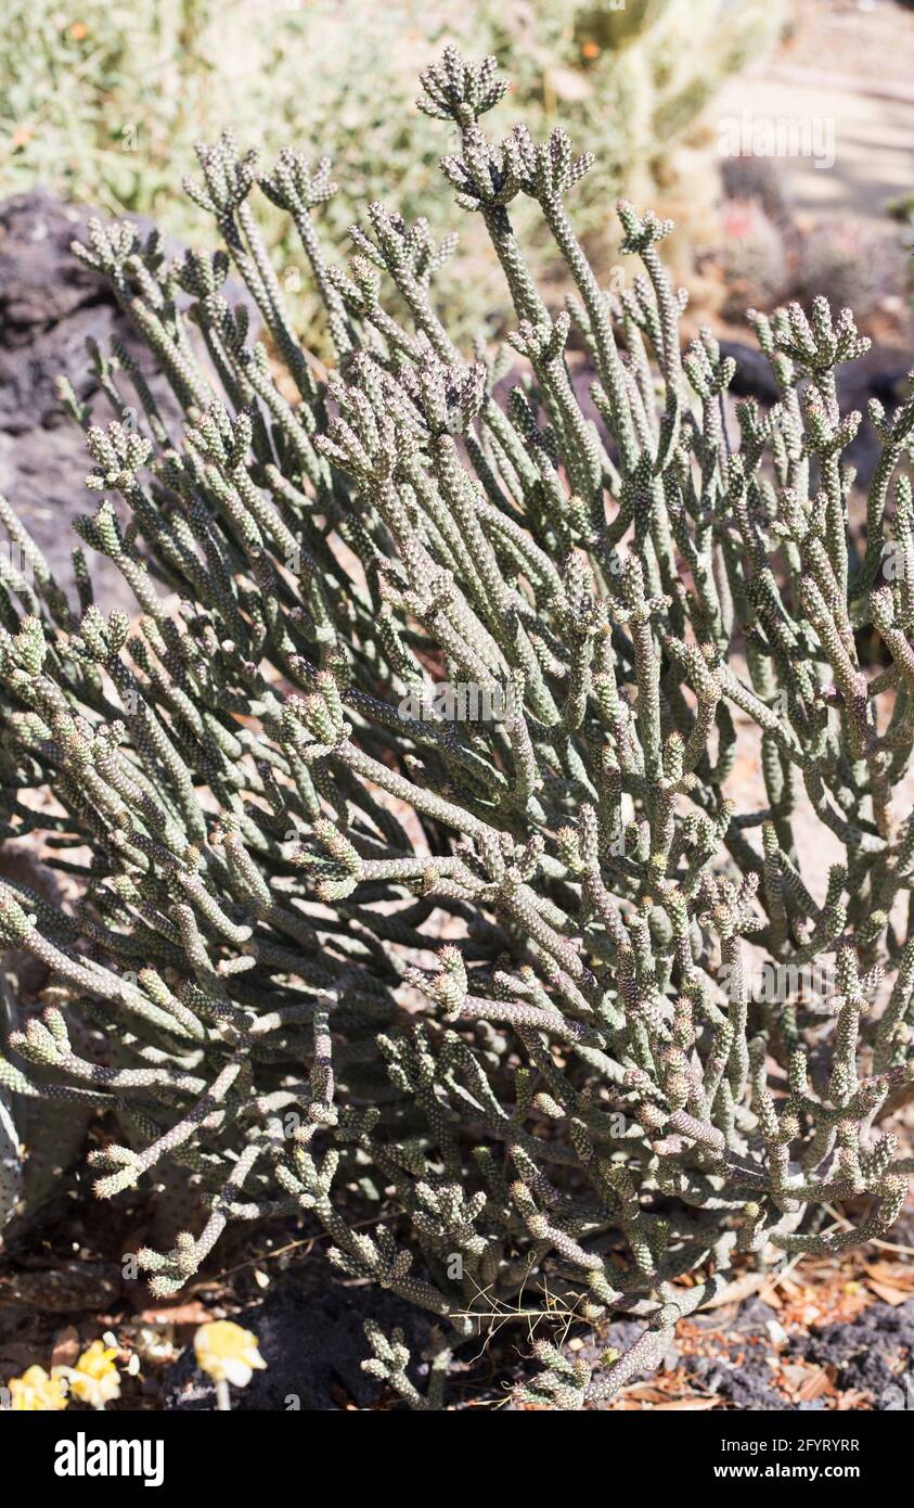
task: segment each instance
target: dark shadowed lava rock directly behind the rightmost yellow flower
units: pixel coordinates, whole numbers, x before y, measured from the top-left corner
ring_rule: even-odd
[[[424,1392],[427,1366],[421,1351],[428,1344],[431,1316],[394,1294],[374,1286],[321,1289],[279,1283],[261,1304],[234,1315],[252,1330],[267,1369],[255,1372],[247,1387],[232,1389],[232,1408],[279,1410],[341,1408],[347,1402],[368,1408],[383,1384],[362,1371],[371,1354],[363,1323],[374,1320],[385,1335],[397,1326],[412,1351],[410,1377]],[[193,1345],[169,1368],[166,1408],[211,1410],[216,1389],[196,1366]]]

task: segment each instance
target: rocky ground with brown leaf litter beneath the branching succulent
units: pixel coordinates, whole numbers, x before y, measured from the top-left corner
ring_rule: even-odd
[[[854,1211],[851,1211],[854,1212]],[[854,1212],[858,1217],[860,1212]],[[317,1231],[288,1223],[237,1234],[172,1303],[149,1300],[124,1253],[154,1211],[146,1202],[94,1203],[71,1172],[39,1223],[14,1234],[0,1262],[0,1384],[39,1362],[72,1365],[98,1336],[119,1350],[119,1408],[208,1410],[211,1383],[193,1359],[205,1320],[232,1318],[259,1341],[265,1371],[235,1390],[241,1410],[403,1407],[367,1377],[365,1318],[406,1333],[424,1386],[430,1316],[373,1286],[339,1282]],[[836,1211],[836,1223],[843,1215]],[[683,1321],[664,1365],[627,1384],[609,1411],[899,1410],[914,1404],[914,1211],[891,1243],[840,1261],[804,1256],[768,1274],[736,1271],[713,1309]],[[124,1273],[128,1273],[125,1277]],[[630,1345],[639,1326],[538,1321],[570,1354],[596,1362]],[[451,1408],[514,1408],[510,1389],[532,1356],[526,1321],[496,1324],[454,1362]]]

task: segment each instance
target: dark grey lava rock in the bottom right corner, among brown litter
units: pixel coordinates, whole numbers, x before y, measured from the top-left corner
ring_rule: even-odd
[[[872,1393],[875,1408],[897,1408],[897,1390],[905,1389],[914,1357],[914,1298],[897,1307],[870,1304],[852,1324],[827,1324],[808,1336],[795,1336],[789,1351],[804,1362],[833,1366],[843,1392],[861,1389]]]

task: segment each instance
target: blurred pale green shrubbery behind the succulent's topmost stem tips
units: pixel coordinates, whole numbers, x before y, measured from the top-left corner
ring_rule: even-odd
[[[333,143],[342,188],[326,211],[333,238],[345,234],[353,205],[382,193],[410,219],[439,202],[428,188],[442,151],[433,122],[415,107],[415,78],[431,48],[454,41],[495,53],[514,78],[498,112],[505,130],[523,115],[540,137],[561,110],[593,146],[599,170],[579,205],[581,229],[597,267],[606,265],[615,234],[608,205],[623,188],[656,201],[671,142],[722,78],[772,39],[783,14],[784,0],[474,0],[460,8],[437,0],[8,0],[0,192],[42,182],[113,214],[151,214],[192,241],[181,196],[166,185],[193,167],[193,142],[213,140],[231,121],[244,145],[267,157],[290,140],[314,157]],[[439,214],[451,220],[449,211]],[[474,303],[498,320],[501,282],[481,228],[460,229],[465,249],[478,249]],[[308,279],[284,243],[279,216],[265,234],[294,302],[299,279]],[[466,335],[460,288],[442,291]],[[309,324],[309,317],[302,293],[299,318]]]

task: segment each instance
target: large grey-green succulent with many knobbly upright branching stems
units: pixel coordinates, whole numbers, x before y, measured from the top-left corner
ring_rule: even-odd
[[[27,564],[0,596],[5,829],[44,831],[84,896],[65,915],[0,882],[3,942],[51,974],[2,1074],[113,1111],[101,1197],[186,1169],[208,1215],[140,1253],[158,1295],[228,1221],[299,1212],[342,1273],[437,1316],[428,1395],[401,1338],[370,1329],[371,1369],[413,1407],[493,1320],[641,1316],[593,1375],[537,1332],[523,1395],[582,1407],[655,1362],[735,1261],[837,1252],[902,1205],[909,1161],[879,1122],[914,1075],[914,817],[893,801],[914,739],[914,400],[872,406],[858,553],[842,452],[860,415],[834,382],[866,345],[851,312],[759,317],[780,401],[733,410],[712,335],[680,350],[668,223],[618,205],[644,276],[609,297],[569,208],[590,157],[561,128],[484,133],[492,57],[451,48],[422,86],[514,303],[501,353],[448,335],[452,247],[424,222],[371,204],[348,267],[330,261],[329,164],[293,151],[259,173],[231,136],[201,148],[187,187],[213,256],[169,264],[128,225],[77,247],[186,428],[122,351],[103,382],[137,422],[103,430],[65,394],[103,495],[78,534],[118,562],[134,623],[95,605],[83,549],[68,603],[5,511]],[[300,234],[329,377],[285,312],[255,184]],[[576,288],[558,312],[522,199]],[[231,262],[268,345],[220,294]],[[436,710],[442,686],[472,688],[465,715]],[[765,781],[745,810],[738,718]],[[39,786],[53,808],[24,799]],[[796,840],[804,804],[843,852],[827,876]],[[802,988],[817,964],[824,1004]],[[759,967],[801,983],[772,998]],[[866,1217],[830,1228],[860,1194]]]

